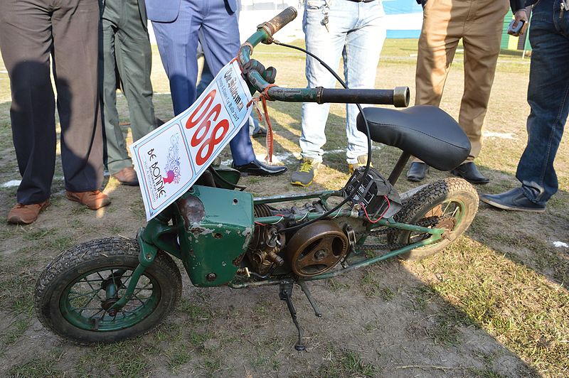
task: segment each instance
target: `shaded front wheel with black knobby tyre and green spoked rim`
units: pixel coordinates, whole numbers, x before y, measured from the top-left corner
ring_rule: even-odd
[[[149,332],[176,306],[180,271],[159,252],[119,311],[139,264],[139,244],[119,237],[92,240],[60,254],[36,284],[36,313],[54,333],[82,344],[117,342]]]

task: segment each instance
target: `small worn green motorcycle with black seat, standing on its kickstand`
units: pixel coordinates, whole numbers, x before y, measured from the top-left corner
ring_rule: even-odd
[[[241,46],[238,60],[252,92],[285,102],[408,106],[406,87],[292,89],[272,84],[275,69],[265,69],[250,55],[258,43],[278,43],[273,34],[295,16],[295,9],[285,9]],[[147,333],[181,295],[176,257],[195,286],[279,285],[280,299],[298,330],[295,348],[303,350],[292,303],[294,284],[321,316],[309,281],[392,257],[415,260],[440,252],[469,227],[478,208],[476,190],[460,178],[401,195],[394,187],[411,155],[442,171],[464,161],[470,144],[452,117],[429,106],[359,109],[357,125],[368,136],[369,151],[371,140],[403,151],[388,178],[368,163],[340,190],[253,198],[236,190],[243,189],[238,171],[212,166],[136,239],[93,240],[50,262],[36,285],[39,320],[63,338],[86,344]],[[305,205],[293,205],[304,200]]]

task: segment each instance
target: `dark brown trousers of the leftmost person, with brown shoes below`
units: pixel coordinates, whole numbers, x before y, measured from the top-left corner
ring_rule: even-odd
[[[19,203],[38,203],[50,196],[55,104],[65,189],[83,192],[102,185],[99,16],[98,0],[0,1],[0,50],[10,77],[11,125],[22,175]]]

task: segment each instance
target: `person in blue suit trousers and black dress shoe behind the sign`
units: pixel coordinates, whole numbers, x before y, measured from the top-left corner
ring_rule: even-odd
[[[198,39],[211,73],[215,76],[239,50],[235,0],[146,0],[160,58],[170,80],[174,114],[184,112],[196,100]],[[230,141],[233,168],[250,175],[280,175],[284,166],[269,166],[255,158],[249,126],[245,124]]]

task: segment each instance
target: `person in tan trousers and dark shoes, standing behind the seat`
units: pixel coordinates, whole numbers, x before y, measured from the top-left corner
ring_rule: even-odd
[[[447,74],[462,39],[464,46],[464,94],[458,123],[467,134],[472,149],[467,160],[451,171],[470,183],[486,184],[489,179],[478,170],[474,159],[482,149],[482,125],[494,82],[504,16],[508,7],[516,24],[527,21],[523,0],[418,0],[423,5],[423,21],[415,75],[416,105],[440,105]],[[415,159],[407,179],[419,182],[429,171]]]

